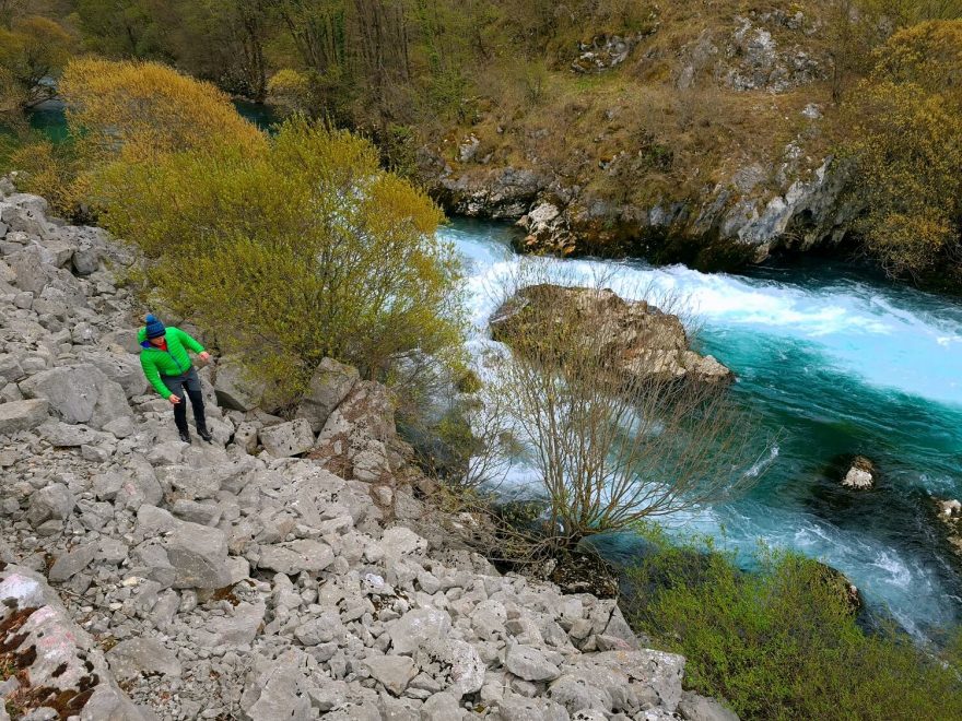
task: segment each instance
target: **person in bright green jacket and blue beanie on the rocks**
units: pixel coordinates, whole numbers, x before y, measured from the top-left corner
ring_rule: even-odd
[[[197,434],[210,442],[211,435],[207,429],[207,421],[203,415],[200,378],[197,377],[197,369],[187,351],[188,348],[193,351],[203,361],[210,361],[210,353],[179,328],[166,328],[153,316],[148,316],[144,322],[146,324],[140,329],[137,336],[143,348],[140,352],[140,366],[143,368],[143,375],[146,376],[154,390],[174,405],[174,423],[177,424],[180,440],[185,444],[190,442],[190,433],[187,430],[187,406],[184,398],[184,391],[187,391],[187,395],[190,397],[190,406],[193,409]]]

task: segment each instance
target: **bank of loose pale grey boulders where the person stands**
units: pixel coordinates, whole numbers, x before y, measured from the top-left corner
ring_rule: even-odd
[[[0,718],[731,718],[614,601],[442,531],[384,387],[326,362],[285,421],[227,358],[184,444],[130,252],[3,179],[0,253]]]

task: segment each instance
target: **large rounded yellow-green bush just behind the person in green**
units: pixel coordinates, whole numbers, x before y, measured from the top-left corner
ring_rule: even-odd
[[[345,131],[284,123],[261,152],[218,149],[115,163],[104,224],[151,259],[160,298],[302,388],[326,355],[378,373],[406,350],[458,340],[458,263],[441,211]]]

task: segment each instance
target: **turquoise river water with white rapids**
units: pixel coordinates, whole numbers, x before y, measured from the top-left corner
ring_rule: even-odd
[[[445,231],[468,263],[471,348],[493,344],[486,321],[497,279],[520,259],[512,231],[456,223]],[[709,533],[746,564],[760,540],[845,572],[876,608],[926,636],[959,619],[958,562],[930,516],[929,494],[962,495],[962,308],[821,262],[750,275],[640,261],[558,261],[568,281],[624,295],[673,289],[699,319],[699,344],[738,375],[732,392],[755,415],[765,473],[743,497],[689,513],[673,533]],[[855,495],[832,477],[841,454],[882,473]],[[837,471],[836,471],[837,472]],[[531,482],[515,469],[511,482]]]

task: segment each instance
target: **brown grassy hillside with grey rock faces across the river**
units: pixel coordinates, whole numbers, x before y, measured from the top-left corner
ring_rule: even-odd
[[[837,244],[858,209],[832,154],[824,12],[722,2],[597,36],[538,99],[479,102],[427,143],[422,179],[449,212],[517,222],[533,251],[712,268]]]

